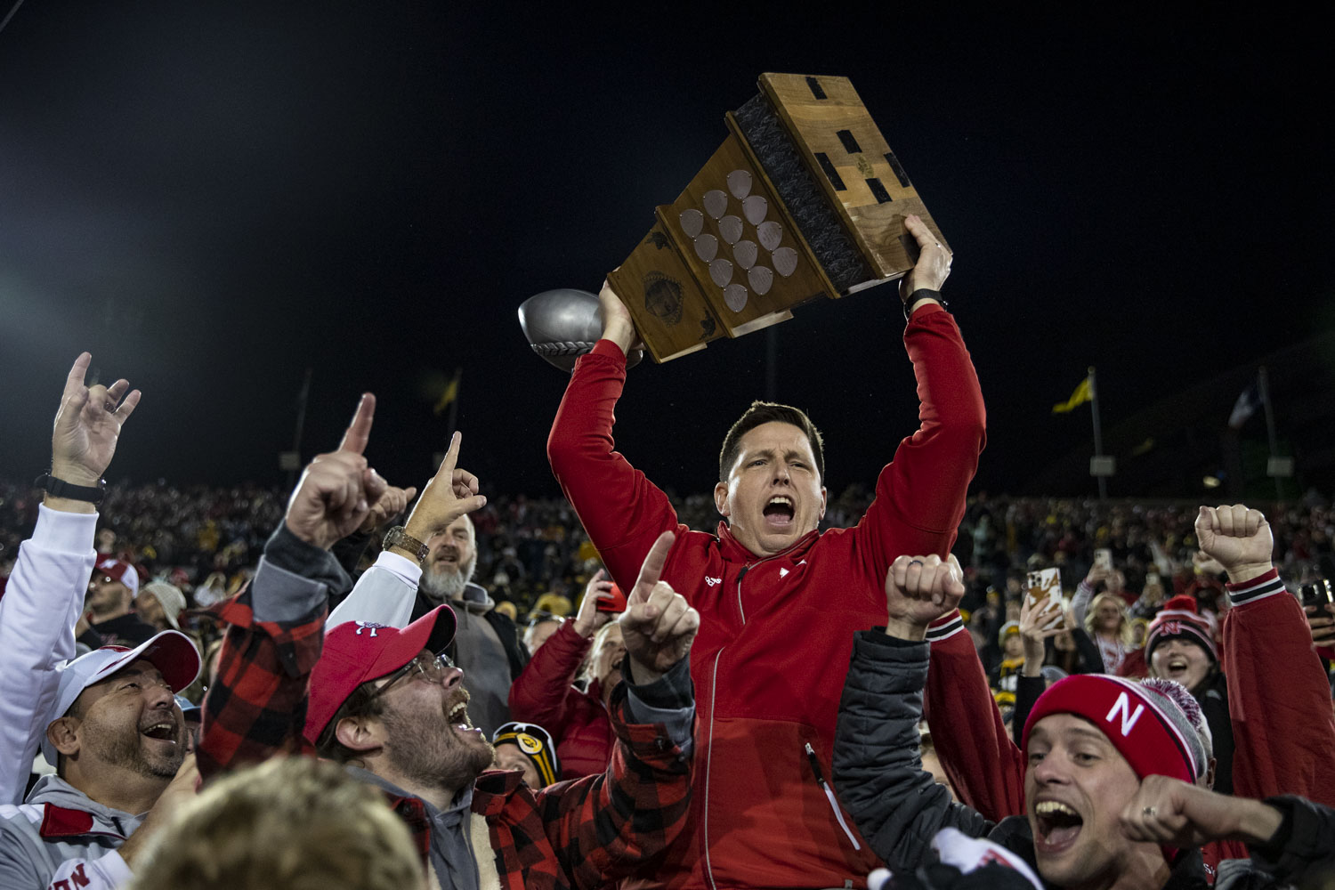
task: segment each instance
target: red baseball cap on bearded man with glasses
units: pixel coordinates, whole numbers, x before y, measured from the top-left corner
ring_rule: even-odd
[[[358,686],[399,670],[427,650],[435,654],[454,639],[455,618],[437,606],[407,627],[344,622],[324,634],[320,660],[311,671],[306,706],[306,741],[315,745],[338,709]]]

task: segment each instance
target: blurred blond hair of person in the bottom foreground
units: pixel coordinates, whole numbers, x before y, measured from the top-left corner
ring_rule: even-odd
[[[375,789],[310,757],[228,775],[154,834],[129,890],[426,886],[407,826]]]

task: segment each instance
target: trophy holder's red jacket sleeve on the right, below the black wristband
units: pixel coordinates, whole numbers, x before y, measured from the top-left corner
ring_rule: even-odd
[[[964,495],[987,440],[987,410],[969,351],[949,312],[913,314],[904,346],[917,379],[920,427],[900,443],[858,524],[872,542],[870,574],[884,578],[896,556],[945,556],[964,518]]]

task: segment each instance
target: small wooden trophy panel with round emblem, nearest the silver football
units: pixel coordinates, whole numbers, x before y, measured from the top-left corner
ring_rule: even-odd
[[[722,336],[722,326],[709,308],[676,242],[662,223],[635,247],[607,282],[630,310],[635,331],[654,362],[668,362]]]

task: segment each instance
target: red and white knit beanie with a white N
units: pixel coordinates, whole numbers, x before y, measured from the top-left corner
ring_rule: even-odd
[[[1029,750],[1029,733],[1051,714],[1075,714],[1093,723],[1137,778],[1167,775],[1195,782],[1208,766],[1191,719],[1161,689],[1108,674],[1057,681],[1029,711],[1021,750]]]

